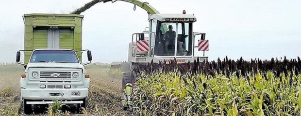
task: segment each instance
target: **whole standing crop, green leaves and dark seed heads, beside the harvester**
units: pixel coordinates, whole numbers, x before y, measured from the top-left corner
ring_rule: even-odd
[[[153,116],[300,116],[301,59],[148,64],[134,111]]]

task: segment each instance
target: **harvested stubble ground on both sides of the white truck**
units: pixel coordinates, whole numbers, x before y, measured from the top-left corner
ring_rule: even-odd
[[[90,75],[90,91],[87,113],[88,116],[131,116],[121,106],[122,73],[118,70],[110,70],[108,66],[87,65],[87,74]],[[25,116],[20,109],[20,74],[24,68],[20,65],[0,65],[0,115],[1,116]],[[47,109],[37,110],[32,116],[48,116]],[[71,116],[72,110],[63,113]],[[64,115],[63,115],[64,116]]]

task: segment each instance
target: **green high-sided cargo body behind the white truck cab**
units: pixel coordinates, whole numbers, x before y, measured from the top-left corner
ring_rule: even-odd
[[[25,14],[24,49],[64,48],[82,50],[82,20],[79,14]],[[82,61],[82,54],[77,53]],[[31,53],[24,54],[27,64]]]

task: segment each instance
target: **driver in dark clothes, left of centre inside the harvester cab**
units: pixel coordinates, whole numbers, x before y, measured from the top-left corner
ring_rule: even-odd
[[[174,43],[175,43],[175,39],[176,39],[176,31],[172,30],[172,25],[168,26],[168,31],[166,31],[164,33],[163,39],[166,41],[165,43],[165,53],[166,54],[170,54],[168,53],[168,46],[172,45],[172,48],[174,48]]]

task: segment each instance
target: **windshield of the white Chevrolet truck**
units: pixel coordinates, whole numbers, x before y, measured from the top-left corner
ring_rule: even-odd
[[[37,50],[33,52],[30,62],[62,62],[78,63],[74,51],[69,50]]]

